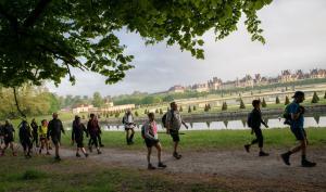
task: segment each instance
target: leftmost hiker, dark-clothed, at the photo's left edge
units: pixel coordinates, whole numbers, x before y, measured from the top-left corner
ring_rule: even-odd
[[[13,128],[13,126],[9,121],[9,119],[7,119],[5,123],[4,123],[4,126],[2,127],[4,148],[1,150],[0,156],[4,155],[4,152],[8,149],[8,146],[11,149],[12,155],[17,156],[17,154],[14,150],[14,138],[15,138],[14,132],[15,132],[15,129]]]

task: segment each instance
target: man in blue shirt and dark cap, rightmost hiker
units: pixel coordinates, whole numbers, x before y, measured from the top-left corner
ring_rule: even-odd
[[[316,166],[316,163],[309,162],[305,157],[308,140],[306,140],[306,133],[303,128],[304,107],[300,105],[300,103],[304,101],[304,93],[302,91],[297,91],[292,98],[293,98],[293,102],[287,106],[287,111],[288,111],[287,113],[290,115],[291,131],[297,138],[297,140],[300,141],[300,145],[293,148],[291,151],[288,151],[287,153],[281,154],[280,156],[286,165],[290,165],[290,155],[301,151],[302,167],[314,167]]]

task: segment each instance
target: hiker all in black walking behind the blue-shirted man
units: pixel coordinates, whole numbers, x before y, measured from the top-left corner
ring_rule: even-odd
[[[251,128],[251,133],[254,132],[255,139],[251,141],[250,144],[246,144],[244,149],[249,153],[250,146],[252,144],[258,143],[260,148],[259,156],[268,156],[268,153],[265,153],[263,151],[263,144],[264,144],[264,138],[263,132],[261,129],[261,125],[263,124],[266,128],[268,128],[267,124],[262,118],[262,112],[261,112],[261,100],[253,100],[252,101],[253,110],[248,116],[248,126]]]

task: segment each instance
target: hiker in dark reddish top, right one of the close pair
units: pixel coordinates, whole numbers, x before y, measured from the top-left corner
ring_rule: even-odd
[[[98,136],[100,135],[100,131],[101,131],[99,121],[96,118],[95,114],[90,114],[89,117],[90,117],[90,119],[88,120],[88,124],[87,124],[87,131],[90,136],[90,140],[88,142],[88,148],[89,148],[89,151],[91,152],[92,151],[91,145],[93,144],[98,151],[98,154],[101,154],[102,152],[100,151],[99,141],[98,141]]]

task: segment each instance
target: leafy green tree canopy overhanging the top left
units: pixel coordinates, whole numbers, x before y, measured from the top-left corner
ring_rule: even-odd
[[[256,11],[272,0],[1,0],[0,84],[55,85],[72,68],[101,74],[106,84],[125,77],[133,55],[117,31],[139,34],[146,43],[178,44],[203,59],[201,36],[216,40],[237,29],[241,14],[252,40],[264,43]]]

